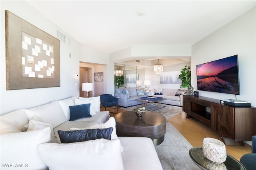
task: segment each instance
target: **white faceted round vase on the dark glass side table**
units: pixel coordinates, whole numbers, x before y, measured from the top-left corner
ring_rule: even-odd
[[[204,138],[202,150],[204,156],[212,162],[222,163],[226,161],[227,153],[225,144],[218,139]]]

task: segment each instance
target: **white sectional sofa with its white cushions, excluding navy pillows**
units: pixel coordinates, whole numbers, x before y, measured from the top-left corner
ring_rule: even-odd
[[[92,117],[69,121],[69,106],[90,108]],[[76,108],[76,107],[75,107]],[[58,130],[112,128],[111,140],[60,143]],[[71,131],[73,132],[73,131]],[[100,111],[100,97],[72,97],[0,116],[2,169],[161,170],[151,139],[117,137],[114,117]]]

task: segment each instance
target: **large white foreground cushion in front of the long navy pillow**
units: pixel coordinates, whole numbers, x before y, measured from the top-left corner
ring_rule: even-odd
[[[96,139],[68,144],[38,145],[50,170],[122,170],[122,147],[118,139]]]

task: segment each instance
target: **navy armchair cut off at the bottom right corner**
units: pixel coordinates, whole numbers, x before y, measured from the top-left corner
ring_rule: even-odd
[[[244,165],[246,170],[256,169],[256,135],[252,136],[252,153],[244,154],[240,158],[240,162]]]

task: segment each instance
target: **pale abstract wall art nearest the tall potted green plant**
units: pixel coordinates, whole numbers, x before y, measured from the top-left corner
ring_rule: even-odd
[[[181,84],[179,79],[180,71],[162,72],[160,84]]]

